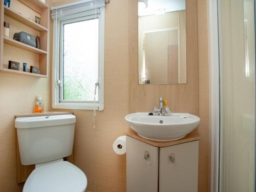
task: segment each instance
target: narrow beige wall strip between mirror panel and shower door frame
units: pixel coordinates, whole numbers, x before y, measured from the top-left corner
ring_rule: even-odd
[[[199,66],[199,191],[209,191],[209,60],[207,1],[197,0]]]

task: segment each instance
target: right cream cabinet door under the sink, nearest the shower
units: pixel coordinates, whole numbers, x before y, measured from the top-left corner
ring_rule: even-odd
[[[159,192],[198,191],[199,141],[161,147],[159,152]]]

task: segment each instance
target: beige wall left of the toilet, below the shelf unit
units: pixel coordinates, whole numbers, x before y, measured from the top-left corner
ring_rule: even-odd
[[[23,186],[17,184],[14,115],[32,113],[38,94],[45,100],[48,111],[49,90],[49,78],[0,73],[0,190],[3,192],[22,191]]]

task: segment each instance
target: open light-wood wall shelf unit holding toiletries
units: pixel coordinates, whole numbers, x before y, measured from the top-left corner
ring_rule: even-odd
[[[0,14],[2,30],[0,32],[0,71],[32,77],[48,77],[49,62],[49,0],[46,4],[40,0],[17,0],[12,1],[10,8],[4,6],[4,0],[0,0]],[[39,16],[40,25],[35,22],[35,16]],[[4,36],[4,22],[10,23],[10,35]],[[40,37],[40,49],[23,44],[12,39],[13,34],[25,31],[34,37]],[[8,61],[20,63],[20,70],[8,69]],[[23,72],[22,63],[39,67],[40,74]],[[0,74],[1,75],[1,74]]]

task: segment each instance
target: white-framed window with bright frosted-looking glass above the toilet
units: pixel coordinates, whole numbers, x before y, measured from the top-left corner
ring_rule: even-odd
[[[54,20],[53,108],[102,111],[104,7]]]

